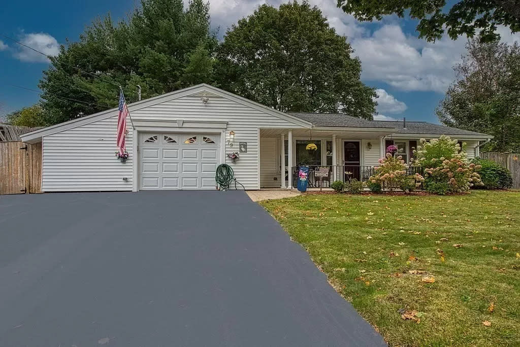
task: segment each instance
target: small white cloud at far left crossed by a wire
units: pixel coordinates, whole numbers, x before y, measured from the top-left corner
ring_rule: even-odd
[[[20,42],[41,51],[47,56],[57,56],[60,52],[60,46],[56,38],[45,33],[24,34],[23,37],[20,38]],[[22,61],[48,62],[48,58],[44,55],[20,45],[18,45],[14,56]]]

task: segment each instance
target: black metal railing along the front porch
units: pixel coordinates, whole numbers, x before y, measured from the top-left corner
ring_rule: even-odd
[[[370,176],[375,174],[374,166],[369,165],[300,165],[292,167],[292,186],[298,184],[298,171],[301,166],[309,168],[308,184],[309,187],[323,187],[329,188],[333,181],[348,182],[356,179],[358,181],[368,181]],[[326,177],[318,177],[315,175],[317,168],[328,167],[329,175]],[[409,166],[408,175],[420,174],[423,175],[422,166]]]

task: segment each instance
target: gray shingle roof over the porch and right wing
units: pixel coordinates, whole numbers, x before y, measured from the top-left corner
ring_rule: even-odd
[[[447,127],[445,125],[427,122],[408,122],[406,129],[403,122],[367,121],[367,119],[347,116],[341,113],[289,113],[304,119],[315,126],[349,127],[349,128],[389,128],[395,129],[395,134],[432,134],[432,135],[486,135],[480,132]]]

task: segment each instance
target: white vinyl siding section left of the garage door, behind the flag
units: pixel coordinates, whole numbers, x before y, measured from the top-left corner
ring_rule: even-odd
[[[131,191],[132,126],[126,124],[126,150],[115,157],[117,116],[64,130],[43,138],[42,191]],[[123,181],[126,177],[127,181]]]

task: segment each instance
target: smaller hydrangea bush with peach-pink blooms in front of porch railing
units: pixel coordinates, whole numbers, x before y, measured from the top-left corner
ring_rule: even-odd
[[[375,174],[370,176],[369,182],[379,183],[389,191],[399,188],[410,192],[424,180],[419,174],[408,175],[408,167],[400,155],[396,157],[392,153],[386,153],[384,158],[379,159],[379,164],[380,166],[374,167]]]

